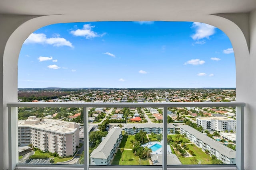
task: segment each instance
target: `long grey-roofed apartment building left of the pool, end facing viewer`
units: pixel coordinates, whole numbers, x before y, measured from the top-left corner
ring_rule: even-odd
[[[122,139],[122,128],[114,127],[90,155],[91,165],[109,165]]]

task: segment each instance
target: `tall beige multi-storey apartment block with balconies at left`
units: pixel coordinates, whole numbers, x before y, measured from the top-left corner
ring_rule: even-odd
[[[59,156],[73,155],[79,145],[79,125],[30,116],[18,121],[18,145],[29,144],[43,151],[57,152]]]

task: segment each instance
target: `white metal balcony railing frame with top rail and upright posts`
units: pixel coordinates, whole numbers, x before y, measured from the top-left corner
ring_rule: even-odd
[[[168,107],[237,107],[237,121],[236,123],[236,127],[237,127],[237,145],[236,145],[236,164],[229,164],[229,165],[207,165],[207,167],[226,167],[226,168],[234,168],[236,167],[239,170],[243,169],[243,162],[241,161],[241,158],[243,158],[243,131],[244,131],[244,107],[245,104],[242,102],[182,102],[182,103],[116,103],[116,104],[112,104],[112,103],[32,103],[32,102],[16,102],[16,103],[9,103],[7,104],[8,107],[10,107],[9,109],[9,124],[10,124],[10,131],[9,131],[9,140],[10,141],[15,141],[16,140],[16,134],[18,133],[18,128],[17,125],[15,124],[15,115],[16,115],[16,109],[15,107],[83,107],[84,108],[84,115],[88,115],[86,113],[87,108],[88,107],[163,107],[163,158],[162,158],[162,166],[154,166],[154,167],[158,167],[158,168],[162,168],[163,170],[166,170],[166,168],[172,168],[172,167],[176,167],[176,166],[172,166],[172,165],[167,165],[167,110]],[[87,117],[84,116],[84,126],[88,125],[88,122],[86,121]],[[86,128],[84,128],[84,148],[88,148],[88,131],[86,131]],[[54,139],[55,141],[55,139]],[[199,145],[201,141],[196,141],[196,144]],[[206,144],[204,144],[206,146]],[[58,147],[58,151],[60,151],[60,146]],[[10,145],[10,150],[12,150],[12,152],[10,152],[10,167],[15,168],[15,167],[19,167],[22,166],[20,164],[18,164],[16,162],[17,158],[16,158],[16,152],[17,152],[17,145],[16,143],[12,143]],[[55,145],[52,145],[50,148],[51,150],[56,150]],[[85,165],[84,168],[88,169],[88,168],[93,168],[93,167],[97,167],[97,166],[92,166],[89,165],[89,155],[88,152],[84,152],[84,160],[85,160]],[[30,165],[26,165],[26,166],[30,166]],[[57,166],[57,165],[56,165]],[[65,165],[65,167],[72,167],[71,165]],[[80,166],[76,166],[76,167],[80,167]],[[111,167],[111,166],[110,166]],[[115,166],[116,168],[122,168],[122,166]],[[147,166],[141,166],[141,168],[143,167],[147,167]],[[179,165],[177,166],[179,168],[186,168],[186,165]],[[189,165],[188,167],[190,168],[196,168],[198,166],[196,165]],[[203,167],[203,166],[201,166]],[[102,168],[102,167],[101,167]]]

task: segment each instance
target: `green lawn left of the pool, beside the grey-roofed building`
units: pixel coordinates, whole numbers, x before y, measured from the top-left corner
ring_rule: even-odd
[[[112,165],[149,165],[149,161],[147,159],[139,159],[138,156],[134,156],[132,150],[124,150],[122,156],[123,161],[120,149],[118,149],[114,160],[112,161]]]

